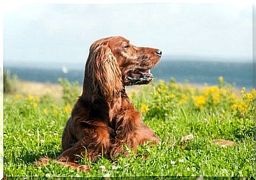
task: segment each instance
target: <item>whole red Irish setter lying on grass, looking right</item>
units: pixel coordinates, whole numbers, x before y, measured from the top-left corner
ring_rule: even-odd
[[[63,153],[57,158],[58,163],[88,171],[88,165],[74,163],[80,155],[86,155],[89,161],[102,154],[115,158],[126,154],[124,143],[136,150],[146,141],[159,142],[153,131],[143,125],[125,86],[151,82],[150,69],[161,55],[158,49],[136,47],[123,37],[100,39],[90,46],[82,95],[62,134]]]

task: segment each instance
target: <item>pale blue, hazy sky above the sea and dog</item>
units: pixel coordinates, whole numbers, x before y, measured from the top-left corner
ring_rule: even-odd
[[[5,11],[5,64],[84,65],[97,39],[121,35],[163,58],[251,61],[252,5],[137,3],[21,5]]]

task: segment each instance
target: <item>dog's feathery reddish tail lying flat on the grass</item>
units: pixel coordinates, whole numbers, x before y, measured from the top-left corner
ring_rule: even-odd
[[[35,166],[47,166],[50,163],[50,158],[49,157],[42,157],[40,159],[38,159],[38,161],[34,162]],[[69,166],[74,170],[78,170],[78,171],[84,171],[86,173],[88,173],[90,171],[90,166],[89,165],[78,165],[77,163],[74,162],[64,162],[64,161],[57,161],[55,159],[53,159],[54,162],[58,163],[59,165],[64,165],[64,166]]]

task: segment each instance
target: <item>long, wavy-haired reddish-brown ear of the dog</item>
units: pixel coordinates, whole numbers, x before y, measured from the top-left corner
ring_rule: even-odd
[[[82,94],[91,102],[99,97],[111,99],[123,89],[121,71],[107,41],[97,41],[90,46],[84,78]]]

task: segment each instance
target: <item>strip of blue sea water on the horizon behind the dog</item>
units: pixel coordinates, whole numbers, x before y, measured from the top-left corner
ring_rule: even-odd
[[[72,69],[68,67],[68,73],[64,73],[61,66],[47,68],[6,65],[6,69],[20,79],[36,82],[57,83],[58,78],[61,77],[82,83],[84,77],[84,66],[73,66]],[[226,82],[234,83],[236,87],[247,89],[253,87],[251,62],[161,61],[151,72],[156,81],[158,79],[170,81],[173,77],[176,82],[181,83],[216,85],[221,75]]]

